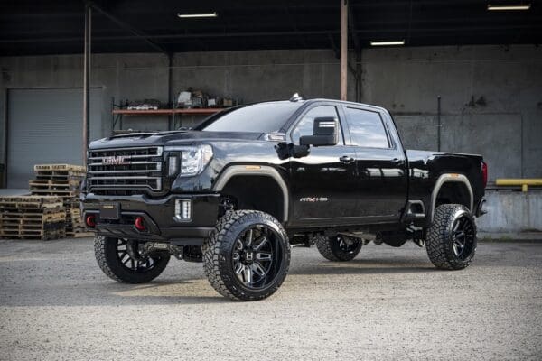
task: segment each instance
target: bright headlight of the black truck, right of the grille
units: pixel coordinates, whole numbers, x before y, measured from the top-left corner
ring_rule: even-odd
[[[165,151],[170,152],[168,173],[173,176],[177,172],[177,157],[179,154],[180,171],[182,177],[189,177],[201,173],[212,158],[212,147],[208,144],[187,147],[166,147]]]

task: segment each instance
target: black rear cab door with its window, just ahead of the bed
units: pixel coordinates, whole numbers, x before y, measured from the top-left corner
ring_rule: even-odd
[[[357,213],[369,222],[398,221],[406,203],[406,157],[395,125],[378,108],[341,109],[356,153]]]

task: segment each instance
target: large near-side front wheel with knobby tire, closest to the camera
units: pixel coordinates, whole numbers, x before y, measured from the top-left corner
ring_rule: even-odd
[[[232,300],[269,297],[284,282],[290,266],[285,229],[257,210],[226,213],[202,251],[211,286]]]

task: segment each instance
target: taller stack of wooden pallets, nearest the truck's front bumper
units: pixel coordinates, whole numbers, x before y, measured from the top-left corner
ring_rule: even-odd
[[[79,189],[85,177],[85,168],[71,164],[34,165],[35,180],[30,180],[34,195],[54,195],[62,199],[66,208],[66,236],[92,236],[86,231],[79,209]]]

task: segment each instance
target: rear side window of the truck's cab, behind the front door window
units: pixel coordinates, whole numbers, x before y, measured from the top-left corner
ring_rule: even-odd
[[[346,108],[346,120],[352,145],[368,148],[389,148],[388,134],[377,112]]]

